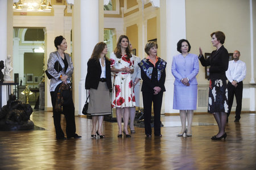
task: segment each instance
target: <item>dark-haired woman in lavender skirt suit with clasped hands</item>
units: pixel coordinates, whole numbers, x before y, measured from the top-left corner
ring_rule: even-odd
[[[199,61],[196,54],[188,53],[191,45],[188,40],[177,42],[177,51],[179,55],[172,59],[172,74],[175,77],[174,82],[174,109],[180,110],[180,120],[182,129],[178,137],[185,133],[187,137],[192,136],[193,110],[196,110],[197,102],[197,80],[196,75],[199,72]],[[186,128],[186,119],[188,120],[188,129]]]

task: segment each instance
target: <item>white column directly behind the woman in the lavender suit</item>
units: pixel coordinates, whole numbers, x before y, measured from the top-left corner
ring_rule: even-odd
[[[160,9],[166,11],[165,15],[163,12],[160,13],[160,15],[164,15],[160,17],[161,27],[166,24],[166,31],[161,30],[161,38],[166,37],[166,48],[162,48],[164,42],[161,42],[162,51],[166,51],[161,52],[161,55],[167,55],[165,113],[177,113],[179,111],[172,109],[175,79],[171,73],[171,65],[173,56],[179,53],[176,50],[177,42],[186,38],[185,0],[161,0]],[[177,17],[177,14],[179,14],[179,17]]]

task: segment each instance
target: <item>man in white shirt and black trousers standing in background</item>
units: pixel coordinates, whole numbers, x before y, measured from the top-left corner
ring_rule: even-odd
[[[243,82],[242,80],[246,75],[246,65],[242,62],[240,58],[240,52],[235,50],[233,53],[234,60],[229,61],[229,68],[226,71],[226,78],[228,78],[228,100],[229,100],[229,112],[228,117],[231,112],[234,95],[237,100],[236,107],[236,120],[234,122],[239,122],[240,114],[242,110],[242,95],[243,95]],[[228,121],[228,118],[227,118]]]

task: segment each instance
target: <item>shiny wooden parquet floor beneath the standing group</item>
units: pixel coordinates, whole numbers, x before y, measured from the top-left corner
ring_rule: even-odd
[[[146,138],[143,128],[117,138],[117,123],[111,122],[104,122],[105,139],[92,139],[91,120],[81,117],[76,128],[82,138],[57,141],[52,113],[34,111],[31,120],[47,130],[0,131],[0,169],[256,169],[256,117],[241,117],[235,123],[230,114],[225,141],[210,139],[217,125],[193,126],[192,137],[176,137],[181,127],[165,126],[162,138]],[[196,115],[193,122],[216,124],[211,114]]]

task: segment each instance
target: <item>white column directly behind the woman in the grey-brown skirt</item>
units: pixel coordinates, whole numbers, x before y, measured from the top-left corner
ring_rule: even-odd
[[[85,103],[85,76],[87,73],[87,62],[94,46],[99,39],[99,2],[81,1],[81,77],[79,82],[79,114]],[[75,4],[76,5],[76,4]],[[103,6],[102,6],[103,10]],[[75,26],[75,25],[73,25]],[[75,56],[78,57],[78,56]],[[79,64],[79,63],[77,63]]]

